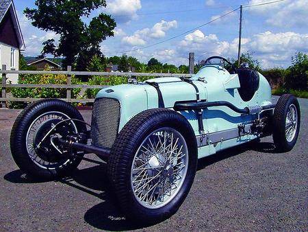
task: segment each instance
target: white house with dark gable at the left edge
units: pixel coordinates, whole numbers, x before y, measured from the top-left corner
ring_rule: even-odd
[[[0,69],[18,70],[19,51],[25,49],[23,34],[12,0],[0,0]],[[8,81],[17,83],[18,74],[9,74]]]

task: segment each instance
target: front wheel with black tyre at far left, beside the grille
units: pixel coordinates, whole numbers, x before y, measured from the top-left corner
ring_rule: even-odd
[[[49,181],[70,174],[79,165],[81,159],[68,158],[67,150],[52,137],[57,133],[65,139],[67,135],[85,131],[85,124],[66,120],[43,139],[55,124],[65,119],[84,121],[77,109],[55,99],[30,104],[18,115],[12,127],[10,148],[15,163],[23,172]],[[82,152],[78,154],[83,155]]]

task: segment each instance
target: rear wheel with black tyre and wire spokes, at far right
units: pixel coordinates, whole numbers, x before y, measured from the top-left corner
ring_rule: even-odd
[[[300,106],[294,95],[282,95],[274,109],[272,138],[280,152],[294,147],[300,130]]]

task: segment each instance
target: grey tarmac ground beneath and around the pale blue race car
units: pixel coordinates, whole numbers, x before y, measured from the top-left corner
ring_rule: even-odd
[[[179,211],[144,231],[308,231],[308,100],[291,152],[272,138],[199,160],[194,185]],[[107,192],[105,165],[81,163],[71,178],[35,183],[14,164],[10,130],[20,111],[0,109],[0,231],[140,229]],[[90,111],[81,112],[90,120]],[[90,156],[94,158],[94,156]]]

